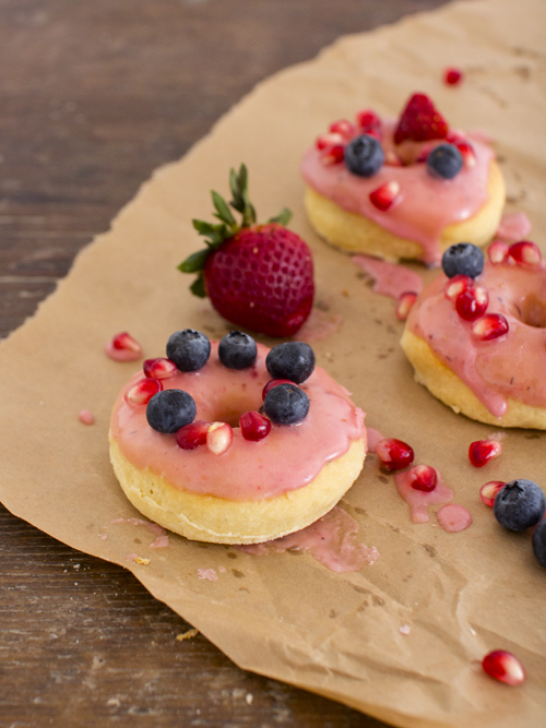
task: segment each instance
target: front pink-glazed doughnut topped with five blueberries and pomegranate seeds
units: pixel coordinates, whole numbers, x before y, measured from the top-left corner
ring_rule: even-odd
[[[189,363],[180,356],[185,337],[204,345]],[[233,341],[250,339],[253,357],[244,351],[242,359],[226,358],[226,339],[232,349]],[[186,330],[170,337],[167,355],[144,362],[147,378],[142,371],[131,378],[110,425],[116,476],[152,521],[195,540],[265,541],[324,515],[358,477],[366,454],[364,413],[314,368],[307,344],[270,351],[240,332],[218,345]],[[154,402],[162,397],[176,402],[164,403],[158,416]]]

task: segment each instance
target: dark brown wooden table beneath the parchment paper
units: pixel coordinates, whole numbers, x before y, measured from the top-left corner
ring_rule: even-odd
[[[442,2],[0,0],[0,335],[256,82]],[[177,641],[132,574],[2,506],[0,529],[0,726],[383,725]]]

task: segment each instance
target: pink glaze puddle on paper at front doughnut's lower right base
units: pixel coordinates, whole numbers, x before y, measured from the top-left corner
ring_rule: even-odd
[[[304,551],[316,561],[337,574],[358,571],[365,564],[379,559],[376,547],[355,541],[359,525],[346,511],[334,508],[330,513],[307,528],[265,544],[236,546],[235,548],[253,556]]]

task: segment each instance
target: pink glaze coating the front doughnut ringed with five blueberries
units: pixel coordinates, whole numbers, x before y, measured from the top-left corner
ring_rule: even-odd
[[[144,405],[129,405],[124,393],[141,377],[138,372],[114,406],[111,430],[123,455],[141,469],[163,475],[175,488],[194,493],[247,501],[275,498],[302,488],[325,463],[344,455],[355,440],[366,439],[364,413],[321,367],[301,384],[310,399],[309,414],[299,425],[273,425],[266,438],[242,438],[238,421],[262,406],[262,390],[271,379],[265,369],[268,347],[258,344],[256,365],[227,369],[211,342],[206,365],[197,372],[179,372],[163,380],[164,389],[181,389],[195,401],[195,419],[227,421],[234,427],[232,446],[216,456],[207,447],[181,450],[175,435],[155,432]]]

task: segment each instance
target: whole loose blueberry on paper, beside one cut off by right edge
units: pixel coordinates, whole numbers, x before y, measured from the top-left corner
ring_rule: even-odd
[[[492,512],[505,528],[524,530],[541,521],[546,497],[533,480],[511,480],[499,490]]]

